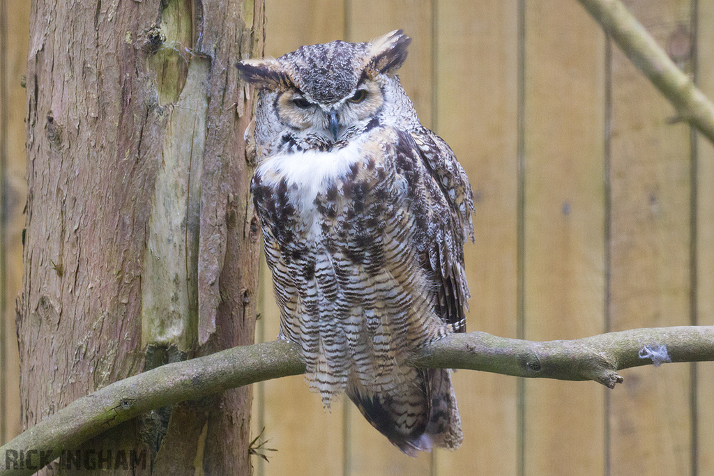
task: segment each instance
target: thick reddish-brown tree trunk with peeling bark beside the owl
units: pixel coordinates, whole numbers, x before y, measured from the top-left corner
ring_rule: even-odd
[[[263,1],[34,0],[30,28],[24,428],[129,375],[253,342],[251,95],[234,64],[262,53]],[[250,409],[251,388],[164,408],[46,472],[249,474]]]

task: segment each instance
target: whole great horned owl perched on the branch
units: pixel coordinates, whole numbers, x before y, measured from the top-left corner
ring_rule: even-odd
[[[238,63],[260,90],[251,191],[281,308],[325,407],[346,392],[400,450],[461,445],[450,370],[410,353],[466,329],[473,195],[396,71],[411,42],[303,46]]]

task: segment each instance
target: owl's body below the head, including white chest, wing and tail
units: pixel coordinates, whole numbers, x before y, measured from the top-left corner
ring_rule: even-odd
[[[457,447],[448,370],[411,350],[463,331],[468,178],[426,129],[376,127],[331,151],[262,158],[251,183],[281,335],[301,345],[323,405],[346,390],[408,454]]]

